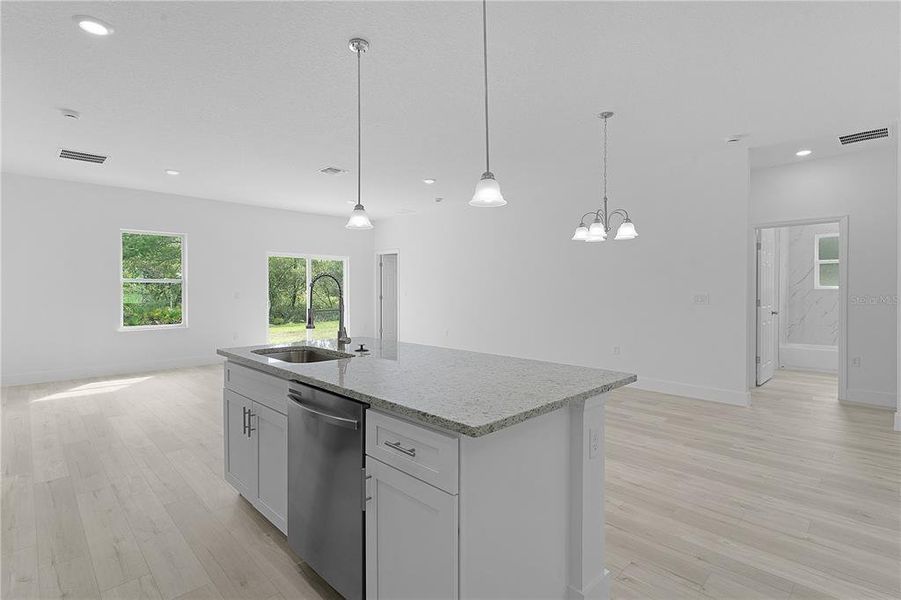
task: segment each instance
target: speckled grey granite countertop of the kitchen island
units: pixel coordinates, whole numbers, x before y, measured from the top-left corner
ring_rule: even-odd
[[[370,352],[354,353],[361,343]],[[289,363],[254,353],[291,346],[315,346],[354,356]],[[637,380],[630,373],[362,337],[354,338],[346,348],[327,340],[220,348],[218,354],[282,379],[300,381],[471,437]]]

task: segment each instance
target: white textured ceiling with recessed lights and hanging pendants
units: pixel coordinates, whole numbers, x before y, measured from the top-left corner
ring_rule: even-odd
[[[597,171],[602,109],[617,113],[611,170],[726,151],[734,133],[753,147],[886,125],[899,110],[898,10],[490,2],[492,170],[502,187]],[[3,2],[3,170],[346,214],[347,40],[362,35],[367,208],[384,218],[435,196],[463,203],[483,170],[480,12],[462,1]],[[115,34],[86,35],[75,14]],[[62,161],[60,147],[111,158]],[[317,172],[330,165],[351,172]]]

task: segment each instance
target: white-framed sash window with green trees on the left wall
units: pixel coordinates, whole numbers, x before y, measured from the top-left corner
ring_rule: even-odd
[[[122,329],[185,326],[185,236],[122,232]]]

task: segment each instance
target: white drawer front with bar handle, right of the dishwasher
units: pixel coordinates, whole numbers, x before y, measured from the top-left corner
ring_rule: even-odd
[[[366,454],[451,494],[458,489],[457,438],[369,410]]]

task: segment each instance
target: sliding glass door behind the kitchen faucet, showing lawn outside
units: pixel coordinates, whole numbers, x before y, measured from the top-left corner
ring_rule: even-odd
[[[269,342],[273,344],[338,337],[338,284],[329,277],[313,290],[315,329],[307,329],[307,293],[314,277],[328,273],[341,282],[347,320],[347,259],[269,256]]]

